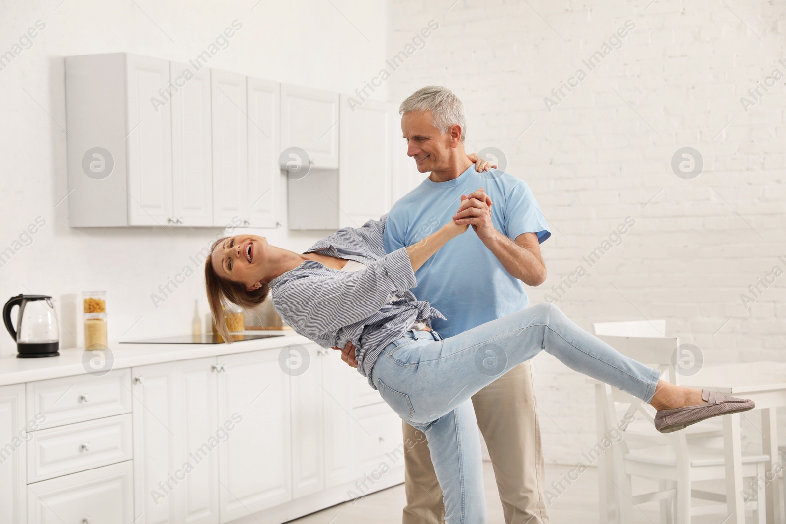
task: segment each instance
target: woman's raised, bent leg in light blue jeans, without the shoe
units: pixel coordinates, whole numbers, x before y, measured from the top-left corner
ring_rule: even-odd
[[[542,302],[442,341],[415,340],[383,351],[373,379],[406,399],[409,423],[428,423],[476,394],[501,374],[545,350],[567,367],[643,401],[656,392],[660,372],[620,354]],[[384,382],[384,388],[376,383]],[[389,404],[393,405],[390,401]],[[393,405],[394,409],[396,406]]]

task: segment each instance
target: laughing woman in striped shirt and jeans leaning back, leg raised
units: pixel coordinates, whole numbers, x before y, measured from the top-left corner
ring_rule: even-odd
[[[468,221],[458,218],[413,246],[385,253],[386,217],[340,229],[303,254],[271,246],[263,236],[217,240],[205,262],[208,300],[227,343],[222,302],[250,308],[270,293],[281,318],[300,335],[325,348],[354,344],[358,372],[427,435],[449,524],[486,522],[470,398],[541,350],[653,405],[662,432],[754,407],[750,400],[659,380],[658,369],[620,354],[550,303],[443,339],[428,325],[443,315],[410,291],[417,285],[414,272],[454,237],[474,233],[465,233]]]

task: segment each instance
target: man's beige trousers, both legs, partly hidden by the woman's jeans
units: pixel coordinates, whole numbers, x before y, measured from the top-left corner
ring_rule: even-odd
[[[532,368],[517,365],[472,397],[489,449],[506,524],[549,524],[543,498],[545,462]],[[403,423],[406,507],[403,524],[443,524],[445,507],[425,435]]]

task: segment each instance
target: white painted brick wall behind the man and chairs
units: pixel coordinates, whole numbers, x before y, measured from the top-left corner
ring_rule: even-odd
[[[786,255],[784,79],[747,112],[740,104],[774,68],[786,74],[786,2],[451,2],[391,2],[388,49],[439,22],[388,81],[391,101],[454,90],[468,150],[500,148],[531,186],[553,226],[549,279],[531,302],[630,215],[623,244],[560,300],[571,319],[591,332],[593,321],[665,318],[709,364],[786,361],[786,276],[750,310],[740,301]],[[636,27],[621,48],[548,112],[543,98],[625,20]],[[698,178],[670,169],[684,146],[703,156]],[[549,355],[534,365],[547,460],[575,464],[594,444],[592,388]]]

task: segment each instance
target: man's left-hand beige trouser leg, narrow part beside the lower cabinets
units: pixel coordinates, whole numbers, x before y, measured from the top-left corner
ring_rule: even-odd
[[[402,524],[443,524],[445,506],[442,489],[434,472],[428,442],[420,430],[406,422],[402,425],[404,442],[415,443],[412,447],[404,446],[406,506]]]

